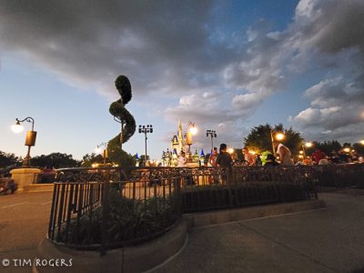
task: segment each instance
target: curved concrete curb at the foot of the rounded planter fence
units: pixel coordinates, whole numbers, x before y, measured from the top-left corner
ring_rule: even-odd
[[[185,246],[186,240],[187,223],[185,220],[182,220],[176,227],[159,238],[134,247],[108,250],[106,256],[100,256],[98,251],[82,251],[59,247],[45,238],[38,245],[38,258],[40,260],[58,259],[59,264],[61,259],[63,259],[64,266],[55,268],[50,268],[49,266],[36,267],[36,262],[34,261],[32,272],[52,273],[67,272],[67,270],[80,273],[143,272],[150,268],[156,268],[168,258],[173,257]]]

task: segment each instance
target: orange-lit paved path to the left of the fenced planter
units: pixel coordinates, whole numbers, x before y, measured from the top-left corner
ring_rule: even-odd
[[[31,272],[29,267],[4,268],[4,258],[36,257],[36,246],[45,238],[52,192],[0,196],[0,272]]]

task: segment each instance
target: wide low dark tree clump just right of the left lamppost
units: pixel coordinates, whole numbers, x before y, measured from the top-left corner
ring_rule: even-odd
[[[47,156],[41,155],[30,159],[32,166],[36,167],[77,167],[80,162],[72,157],[72,155],[52,153]]]

